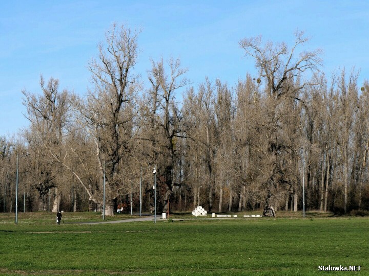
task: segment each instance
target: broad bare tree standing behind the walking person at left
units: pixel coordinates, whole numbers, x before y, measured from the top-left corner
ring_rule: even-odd
[[[27,108],[26,117],[31,123],[31,131],[26,132],[25,135],[28,136],[27,139],[29,142],[34,142],[34,152],[37,152],[38,158],[43,158],[41,162],[46,165],[44,168],[49,167],[47,171],[44,169],[39,171],[40,163],[35,165],[37,167],[35,171],[38,171],[37,175],[40,181],[36,184],[36,189],[40,193],[40,198],[43,198],[49,188],[55,188],[52,211],[57,212],[61,198],[61,193],[59,193],[57,187],[62,184],[62,181],[54,178],[63,174],[63,167],[54,168],[54,172],[51,172],[50,165],[47,165],[47,162],[50,160],[50,154],[61,159],[64,152],[64,137],[67,135],[71,116],[70,102],[68,99],[69,92],[67,90],[59,92],[59,81],[54,78],[50,78],[46,83],[41,76],[40,86],[43,91],[42,95],[28,93],[25,90],[22,91],[25,96],[23,103]],[[36,145],[38,145],[37,148]],[[48,151],[47,154],[45,150]],[[40,159],[38,160],[40,161]]]

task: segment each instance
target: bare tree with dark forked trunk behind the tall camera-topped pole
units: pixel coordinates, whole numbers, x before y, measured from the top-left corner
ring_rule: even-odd
[[[166,64],[161,59],[152,61],[149,72],[151,83],[150,94],[150,125],[151,130],[146,139],[151,140],[154,150],[154,165],[157,166],[159,183],[163,184],[164,196],[162,209],[167,210],[168,200],[172,197],[173,187],[180,186],[175,179],[175,164],[179,160],[180,147],[178,139],[186,138],[183,112],[175,101],[176,91],[189,84],[185,77],[186,68],[182,68],[180,60],[170,58]]]

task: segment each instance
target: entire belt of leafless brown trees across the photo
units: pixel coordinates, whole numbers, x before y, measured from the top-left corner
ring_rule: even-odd
[[[296,31],[293,45],[240,40],[258,75],[234,86],[193,86],[174,58],[152,60],[145,82],[138,35],[111,27],[85,95],[43,77],[40,93],[22,91],[30,125],[0,140],[0,210],[14,211],[18,168],[20,211],[101,211],[104,172],[106,215],[137,211],[140,183],[151,211],[154,167],[158,211],[298,211],[303,190],[306,209],[369,209],[369,83],[356,72],[327,80]]]

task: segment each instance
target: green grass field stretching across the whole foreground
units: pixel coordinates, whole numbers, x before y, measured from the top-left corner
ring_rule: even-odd
[[[65,213],[56,225],[54,216],[21,213],[15,225],[14,214],[0,214],[1,275],[369,274],[367,217],[76,224],[101,216]],[[108,219],[124,218],[131,217]],[[322,265],[361,270],[319,271]]]

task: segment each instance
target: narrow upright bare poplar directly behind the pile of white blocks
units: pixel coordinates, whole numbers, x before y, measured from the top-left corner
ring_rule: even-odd
[[[218,82],[221,85],[220,81]],[[189,114],[187,121],[189,122],[188,135],[191,138],[189,146],[193,154],[191,166],[193,166],[193,189],[196,198],[199,198],[201,190],[207,192],[207,203],[209,212],[211,212],[214,204],[216,190],[216,176],[221,175],[216,168],[216,155],[219,144],[217,142],[217,123],[216,123],[216,86],[209,79],[198,87],[197,95],[191,90],[186,102],[186,110]],[[219,114],[220,116],[220,114]],[[218,181],[223,179],[218,178]],[[200,189],[202,187],[202,189]],[[223,183],[219,182],[219,208],[222,205]],[[196,193],[197,191],[197,193]],[[196,201],[196,200],[195,200]],[[197,202],[197,205],[199,202]],[[200,203],[201,205],[204,204]],[[194,202],[194,205],[195,202]]]

